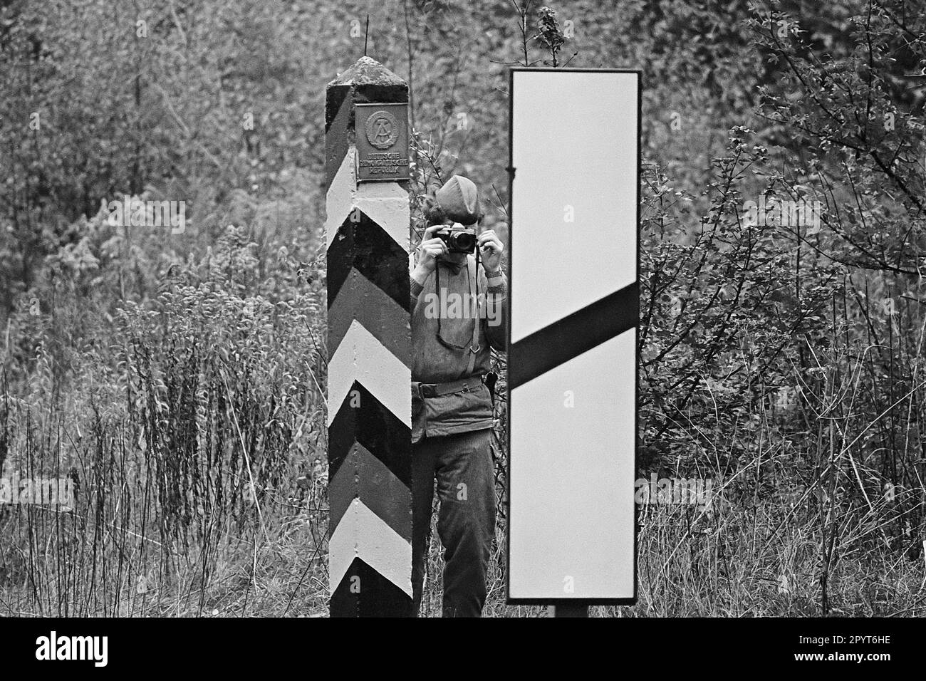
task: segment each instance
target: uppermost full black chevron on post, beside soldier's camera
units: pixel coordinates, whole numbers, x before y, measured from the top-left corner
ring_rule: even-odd
[[[356,211],[357,221],[352,220]],[[379,286],[399,307],[409,311],[408,254],[395,239],[359,208],[344,222],[328,249],[328,307],[337,299],[344,280],[356,268]]]

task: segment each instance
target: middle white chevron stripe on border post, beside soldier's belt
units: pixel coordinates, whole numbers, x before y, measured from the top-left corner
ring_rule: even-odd
[[[337,416],[354,381],[411,427],[411,370],[357,320],[351,322],[328,362],[328,425]]]

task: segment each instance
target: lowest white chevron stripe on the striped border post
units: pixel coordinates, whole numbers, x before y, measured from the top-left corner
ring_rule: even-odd
[[[412,595],[411,544],[358,498],[344,512],[328,541],[331,593],[341,584],[355,558],[366,562],[409,597]],[[362,584],[360,590],[363,591]]]

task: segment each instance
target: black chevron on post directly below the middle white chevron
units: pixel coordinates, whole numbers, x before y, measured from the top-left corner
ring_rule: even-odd
[[[396,385],[396,390],[411,390]],[[355,395],[356,392],[356,395]],[[359,406],[352,407],[351,404]],[[329,405],[333,409],[334,405]],[[392,411],[357,381],[337,405],[338,413],[328,428],[328,475],[334,479],[338,469],[357,441],[381,460],[405,486],[411,484],[411,430]]]

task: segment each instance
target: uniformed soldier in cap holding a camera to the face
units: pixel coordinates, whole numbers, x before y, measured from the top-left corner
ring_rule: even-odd
[[[506,347],[504,246],[492,230],[477,234],[479,195],[468,179],[455,175],[425,204],[431,226],[411,273],[415,613],[436,479],[444,617],[479,617],[495,526],[490,347]]]

